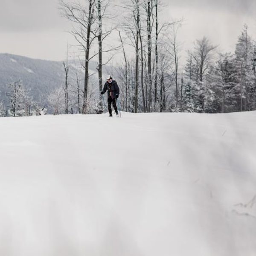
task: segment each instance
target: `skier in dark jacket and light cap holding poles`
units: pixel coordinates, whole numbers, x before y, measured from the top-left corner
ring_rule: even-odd
[[[119,97],[119,87],[117,82],[112,79],[111,76],[107,77],[107,81],[104,84],[101,94],[103,95],[108,90],[108,112],[109,116],[112,116],[111,104],[113,104],[114,110],[116,111],[116,116],[118,116],[118,111],[116,107],[116,99]]]

